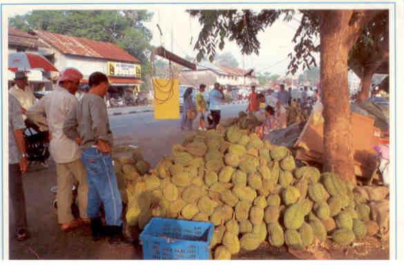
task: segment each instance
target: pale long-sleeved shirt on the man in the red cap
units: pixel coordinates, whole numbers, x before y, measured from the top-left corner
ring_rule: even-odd
[[[63,125],[71,110],[77,110],[79,102],[65,88],[56,88],[28,109],[28,118],[46,113],[50,135],[50,155],[56,163],[68,163],[78,160],[81,152],[75,141],[63,133]]]

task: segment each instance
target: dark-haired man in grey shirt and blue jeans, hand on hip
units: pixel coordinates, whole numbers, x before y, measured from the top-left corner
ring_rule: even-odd
[[[120,242],[122,233],[122,198],[119,193],[113,162],[110,156],[113,135],[110,131],[104,96],[109,87],[103,73],[88,78],[90,90],[79,101],[77,110],[64,123],[64,134],[77,139],[82,150],[81,160],[86,166],[88,181],[88,218],[93,239],[99,240],[104,232],[110,242]],[[99,206],[104,204],[106,227],[102,227]]]

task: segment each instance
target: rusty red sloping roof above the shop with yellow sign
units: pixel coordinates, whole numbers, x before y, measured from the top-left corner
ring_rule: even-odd
[[[139,59],[129,55],[124,49],[110,42],[95,41],[81,37],[71,37],[46,31],[35,33],[50,46],[66,55],[79,55],[117,61],[140,63]]]

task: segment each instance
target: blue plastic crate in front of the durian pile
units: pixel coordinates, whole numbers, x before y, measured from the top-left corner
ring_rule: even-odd
[[[140,233],[144,260],[209,260],[210,222],[152,218]]]

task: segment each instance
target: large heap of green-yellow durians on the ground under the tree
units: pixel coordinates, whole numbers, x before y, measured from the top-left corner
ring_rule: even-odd
[[[238,125],[198,131],[147,169],[137,157],[115,160],[126,181],[128,224],[143,229],[152,217],[211,222],[214,259],[265,241],[291,249],[327,239],[346,246],[377,231],[354,184],[315,167],[297,168],[288,148]]]

